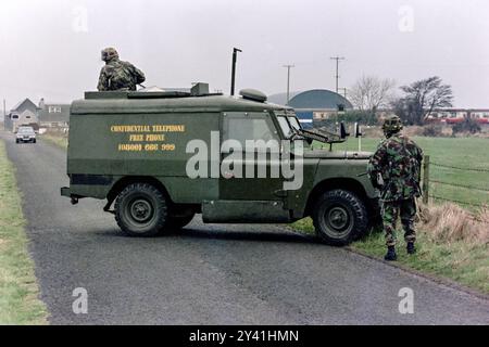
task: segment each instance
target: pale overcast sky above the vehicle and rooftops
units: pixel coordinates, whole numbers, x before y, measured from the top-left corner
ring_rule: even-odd
[[[242,49],[237,89],[267,94],[335,89],[362,75],[398,86],[438,75],[455,106],[489,108],[487,0],[2,0],[0,98],[80,99],[95,90],[100,51],[147,75],[147,86],[206,81],[229,92],[233,47]]]

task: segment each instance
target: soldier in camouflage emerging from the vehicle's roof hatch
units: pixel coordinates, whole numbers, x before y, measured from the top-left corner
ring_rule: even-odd
[[[136,86],[142,83],[145,74],[128,62],[118,60],[118,53],[113,48],[106,48],[102,51],[102,61],[105,66],[102,67],[99,77],[99,91],[126,91],[136,90]]]

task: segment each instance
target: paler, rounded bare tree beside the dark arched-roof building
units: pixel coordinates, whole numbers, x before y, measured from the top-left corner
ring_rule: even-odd
[[[394,86],[392,79],[362,76],[353,86],[350,100],[361,111],[375,112],[389,105]]]

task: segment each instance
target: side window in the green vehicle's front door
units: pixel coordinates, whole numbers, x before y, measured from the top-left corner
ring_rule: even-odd
[[[236,140],[246,151],[268,147],[271,140],[278,143],[275,129],[271,128],[265,118],[225,117],[224,141]],[[248,141],[248,142],[247,142]]]

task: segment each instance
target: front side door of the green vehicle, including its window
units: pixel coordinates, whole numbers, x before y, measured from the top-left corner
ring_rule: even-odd
[[[239,145],[231,150],[233,144]],[[280,138],[268,112],[223,113],[221,169],[221,200],[286,198],[280,175]]]

